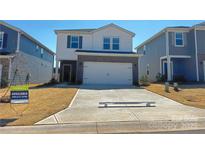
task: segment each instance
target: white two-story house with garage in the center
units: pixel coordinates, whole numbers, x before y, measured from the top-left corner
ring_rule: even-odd
[[[57,34],[56,78],[83,84],[138,83],[135,36],[115,24],[97,29],[55,30]],[[60,67],[60,69],[58,69]]]

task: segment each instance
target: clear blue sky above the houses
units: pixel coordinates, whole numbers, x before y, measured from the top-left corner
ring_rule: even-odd
[[[199,20],[9,20],[5,21],[18,27],[56,51],[56,35],[58,29],[99,28],[114,23],[134,32],[133,48],[153,36],[165,27],[193,26],[203,21]]]

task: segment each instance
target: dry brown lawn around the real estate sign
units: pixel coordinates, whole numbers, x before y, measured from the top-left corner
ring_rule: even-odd
[[[77,88],[40,87],[29,90],[28,105],[0,103],[0,123],[5,125],[33,125],[34,123],[68,107]],[[0,90],[0,95],[6,89]],[[24,111],[25,110],[25,111]],[[23,115],[21,116],[21,112]]]

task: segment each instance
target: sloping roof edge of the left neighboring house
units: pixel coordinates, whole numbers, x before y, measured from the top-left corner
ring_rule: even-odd
[[[52,55],[55,55],[55,53],[54,53],[52,50],[50,50],[48,47],[46,47],[45,45],[43,45],[41,42],[39,42],[38,40],[36,40],[35,38],[33,38],[33,37],[32,37],[31,35],[29,35],[28,33],[24,32],[23,30],[21,30],[21,29],[15,27],[15,26],[12,26],[12,25],[10,25],[10,24],[4,22],[4,21],[1,21],[1,20],[0,20],[0,25],[6,26],[6,27],[8,27],[8,28],[10,28],[10,29],[12,29],[12,30],[14,30],[14,31],[16,31],[16,32],[19,32],[19,33],[23,34],[24,36],[26,36],[26,37],[27,37],[28,39],[30,39],[31,41],[33,41],[33,42],[35,42],[36,44],[38,44],[39,46],[45,48],[45,49],[46,49],[49,53],[51,53]]]

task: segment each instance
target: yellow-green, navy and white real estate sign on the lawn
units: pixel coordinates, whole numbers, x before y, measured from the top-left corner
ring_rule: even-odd
[[[25,104],[29,102],[29,85],[11,86],[11,103]]]

